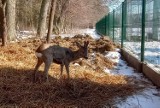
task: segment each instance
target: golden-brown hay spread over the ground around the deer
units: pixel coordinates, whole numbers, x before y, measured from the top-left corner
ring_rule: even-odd
[[[0,47],[0,106],[1,107],[114,107],[116,99],[125,100],[144,87],[134,84],[124,76],[111,76],[103,67],[113,68],[114,64],[103,56],[105,50],[116,47],[106,38],[94,40],[90,36],[77,35],[73,38],[55,38],[52,44],[76,50],[75,41],[90,41],[89,60],[75,61],[70,65],[71,79],[59,78],[60,66],[52,64],[49,83],[44,81],[41,66],[37,82],[33,83],[33,69],[36,64],[35,49],[39,39],[29,39]],[[100,46],[103,47],[100,47]],[[95,57],[91,53],[95,53]],[[79,63],[79,65],[74,65]]]

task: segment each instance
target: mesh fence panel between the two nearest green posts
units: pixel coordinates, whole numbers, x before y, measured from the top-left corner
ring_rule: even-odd
[[[141,57],[142,0],[126,1],[126,36],[124,47],[129,49],[138,59]]]

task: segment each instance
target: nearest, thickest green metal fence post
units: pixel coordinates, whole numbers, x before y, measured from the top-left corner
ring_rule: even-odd
[[[142,0],[141,62],[144,62],[146,0]]]

